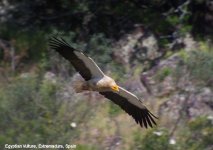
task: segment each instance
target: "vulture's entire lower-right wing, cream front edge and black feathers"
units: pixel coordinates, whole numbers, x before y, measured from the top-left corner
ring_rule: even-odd
[[[132,93],[119,87],[119,92],[100,92],[106,98],[112,100],[115,104],[119,105],[123,110],[125,110],[129,115],[131,115],[136,123],[139,123],[141,127],[153,127],[156,125],[154,116],[147,108],[142,104],[142,102]]]

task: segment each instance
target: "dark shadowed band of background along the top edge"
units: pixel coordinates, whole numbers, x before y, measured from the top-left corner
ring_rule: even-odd
[[[21,30],[72,30],[80,39],[94,33],[119,38],[135,24],[143,24],[158,36],[172,35],[178,26],[190,25],[194,34],[203,36],[212,35],[212,7],[209,0],[21,0],[3,5],[1,18]]]

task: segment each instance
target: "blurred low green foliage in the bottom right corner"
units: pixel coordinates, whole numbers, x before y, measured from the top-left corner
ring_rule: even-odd
[[[174,142],[171,142],[174,140]],[[189,121],[176,135],[169,134],[168,129],[153,129],[145,134],[136,132],[132,149],[137,150],[201,150],[211,149],[213,142],[212,118],[202,116]]]

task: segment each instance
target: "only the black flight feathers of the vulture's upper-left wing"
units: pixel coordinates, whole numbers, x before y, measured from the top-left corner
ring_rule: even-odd
[[[49,39],[49,46],[70,61],[76,71],[78,71],[86,81],[92,78],[90,70],[84,62],[75,55],[74,51],[78,50],[69,45],[64,39],[53,36]]]

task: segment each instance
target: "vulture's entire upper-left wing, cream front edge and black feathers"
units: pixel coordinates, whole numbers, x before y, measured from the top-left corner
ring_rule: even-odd
[[[86,81],[94,77],[102,78],[104,76],[104,73],[90,57],[73,48],[64,39],[53,36],[49,40],[49,45],[51,49],[56,50],[69,60]]]

